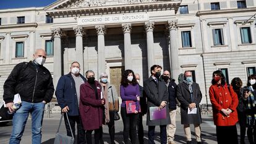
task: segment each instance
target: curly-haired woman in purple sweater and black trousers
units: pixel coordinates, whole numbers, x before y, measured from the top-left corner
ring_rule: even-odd
[[[130,134],[130,141],[132,142],[132,144],[134,144],[136,143],[137,139],[136,124],[138,121],[138,112],[140,109],[140,88],[132,70],[125,70],[124,74],[122,75],[120,95],[122,98],[121,116],[122,122],[124,124],[124,143],[129,143]],[[127,114],[126,101],[135,101],[135,113]]]

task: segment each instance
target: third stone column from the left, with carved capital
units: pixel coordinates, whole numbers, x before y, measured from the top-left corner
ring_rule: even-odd
[[[105,25],[95,25],[98,34],[98,77],[101,72],[106,72],[105,62],[105,38],[106,33]]]

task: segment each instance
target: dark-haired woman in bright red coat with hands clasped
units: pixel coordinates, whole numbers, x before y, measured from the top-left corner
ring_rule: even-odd
[[[213,121],[216,125],[218,144],[238,144],[236,122],[238,104],[237,95],[232,86],[225,82],[225,77],[220,70],[213,72],[209,95],[213,106]]]

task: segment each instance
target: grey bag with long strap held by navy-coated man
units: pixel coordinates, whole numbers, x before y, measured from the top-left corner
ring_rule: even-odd
[[[59,127],[61,127],[63,115],[64,115],[64,113],[61,114],[61,121],[59,121]],[[65,114],[65,115],[67,117],[67,114]],[[67,122],[69,123],[69,117],[67,117]],[[69,123],[69,128],[71,130],[72,137],[59,133],[59,127],[58,127],[58,130],[55,135],[54,144],[74,144],[75,139],[74,139],[72,129],[70,127],[70,123]]]

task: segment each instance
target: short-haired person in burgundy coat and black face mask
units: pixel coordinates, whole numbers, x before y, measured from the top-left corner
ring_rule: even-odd
[[[94,130],[95,144],[98,144],[105,100],[101,98],[101,85],[95,80],[94,72],[88,70],[85,75],[87,82],[80,86],[79,112],[83,129],[86,130],[87,143],[92,144],[92,131]]]

